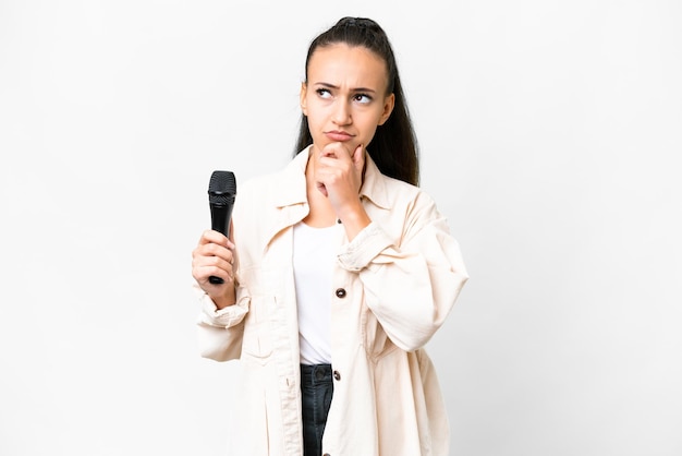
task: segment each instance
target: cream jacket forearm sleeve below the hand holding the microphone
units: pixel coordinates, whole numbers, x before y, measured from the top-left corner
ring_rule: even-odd
[[[198,285],[195,284],[193,287],[202,307],[197,317],[197,344],[200,356],[216,361],[239,358],[242,352],[244,316],[248,312],[248,300],[238,300],[236,304],[219,310]]]

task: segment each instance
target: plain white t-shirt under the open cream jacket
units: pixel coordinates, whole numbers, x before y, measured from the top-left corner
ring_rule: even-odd
[[[294,226],[293,267],[299,309],[302,364],[331,363],[331,275],[340,237],[339,225]]]

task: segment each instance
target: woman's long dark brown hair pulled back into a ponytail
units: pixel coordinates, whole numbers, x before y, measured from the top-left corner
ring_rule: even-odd
[[[351,47],[364,47],[379,56],[388,70],[388,92],[393,94],[395,103],[389,119],[377,127],[377,131],[367,147],[367,153],[379,170],[389,177],[418,185],[419,157],[417,140],[410,120],[407,104],[400,83],[393,49],[383,29],[375,21],[365,17],[343,17],[331,28],[310,43],[305,59],[305,81],[308,79],[308,63],[318,47],[345,44]],[[313,143],[307,118],[301,116],[299,139],[294,156]]]

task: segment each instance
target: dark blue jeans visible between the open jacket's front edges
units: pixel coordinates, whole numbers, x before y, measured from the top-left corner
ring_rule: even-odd
[[[322,433],[333,395],[330,364],[301,364],[301,403],[305,456],[321,456]]]

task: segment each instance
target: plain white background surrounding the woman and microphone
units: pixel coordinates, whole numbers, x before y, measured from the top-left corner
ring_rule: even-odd
[[[346,14],[391,37],[471,274],[428,346],[452,454],[682,454],[682,3],[334,4],[0,0],[0,454],[223,454],[208,179],[289,160]]]

